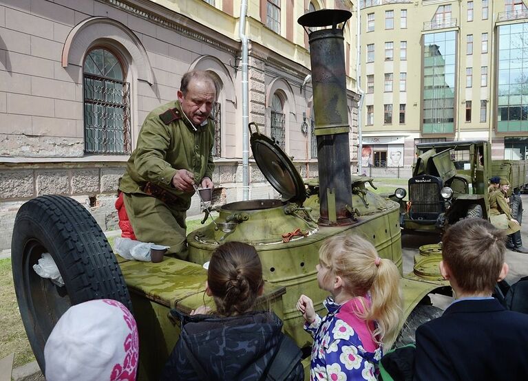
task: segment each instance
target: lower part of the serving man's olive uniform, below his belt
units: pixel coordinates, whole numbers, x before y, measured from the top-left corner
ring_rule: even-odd
[[[142,193],[123,193],[123,200],[138,241],[169,246],[167,254],[187,259],[187,210]]]

